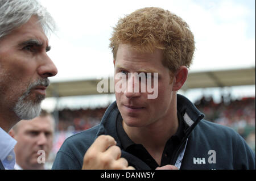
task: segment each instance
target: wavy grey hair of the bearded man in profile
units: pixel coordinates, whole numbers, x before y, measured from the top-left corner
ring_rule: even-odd
[[[52,16],[37,0],[0,0],[0,39],[27,23],[32,15],[38,17],[47,35],[55,31]]]

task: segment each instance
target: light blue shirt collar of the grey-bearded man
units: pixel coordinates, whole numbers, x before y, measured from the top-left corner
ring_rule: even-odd
[[[16,145],[16,140],[0,127],[0,159],[3,161]]]

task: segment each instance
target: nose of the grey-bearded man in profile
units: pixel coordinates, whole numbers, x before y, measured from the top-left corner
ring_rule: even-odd
[[[47,54],[42,58],[42,64],[38,68],[38,74],[43,77],[53,77],[57,74],[57,68]]]

